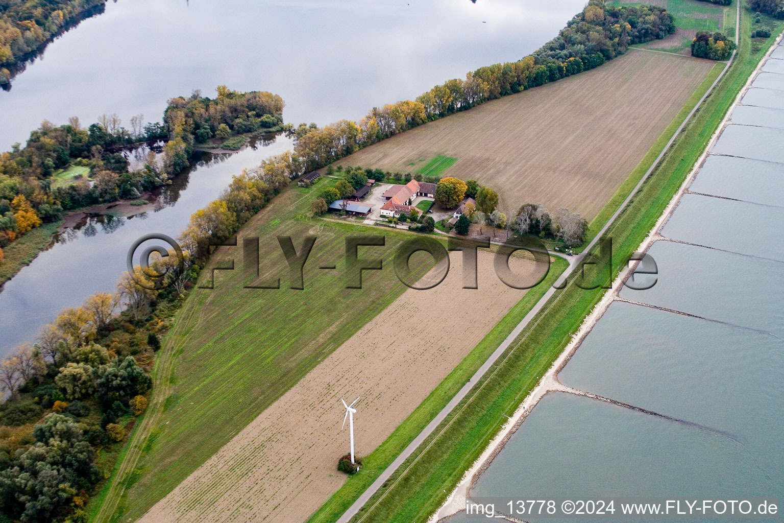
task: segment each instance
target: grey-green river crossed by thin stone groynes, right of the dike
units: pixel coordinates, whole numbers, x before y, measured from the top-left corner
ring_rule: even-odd
[[[777,497],[781,506],[784,48],[773,56],[649,250],[656,285],[622,289],[558,375],[662,416],[547,394],[472,498]]]

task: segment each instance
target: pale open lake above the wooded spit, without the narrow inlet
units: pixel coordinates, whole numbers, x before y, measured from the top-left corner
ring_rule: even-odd
[[[519,60],[585,0],[119,0],[53,42],[0,93],[0,146],[44,118],[161,118],[216,85],[283,96],[287,122],[360,118],[448,78]]]

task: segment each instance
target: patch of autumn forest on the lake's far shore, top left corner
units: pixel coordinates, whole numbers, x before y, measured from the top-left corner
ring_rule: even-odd
[[[0,87],[25,60],[87,16],[103,13],[106,0],[0,0]]]

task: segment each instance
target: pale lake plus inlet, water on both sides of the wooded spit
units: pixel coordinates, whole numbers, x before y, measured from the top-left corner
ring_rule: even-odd
[[[448,78],[518,60],[554,38],[585,0],[119,0],[49,45],[0,92],[0,147],[24,143],[42,120],[95,122],[117,113],[162,118],[166,100],[216,85],[283,96],[286,122],[361,118]],[[97,216],[71,229],[0,292],[0,355],[64,307],[114,289],[143,234],[176,238],[233,174],[291,147],[278,140],[205,158],[154,210]]]

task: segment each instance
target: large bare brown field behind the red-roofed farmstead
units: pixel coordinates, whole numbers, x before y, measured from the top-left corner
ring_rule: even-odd
[[[445,176],[494,187],[504,211],[541,202],[591,220],[713,65],[630,49],[592,71],[430,122],[338,164],[406,173],[446,154],[458,160]]]

